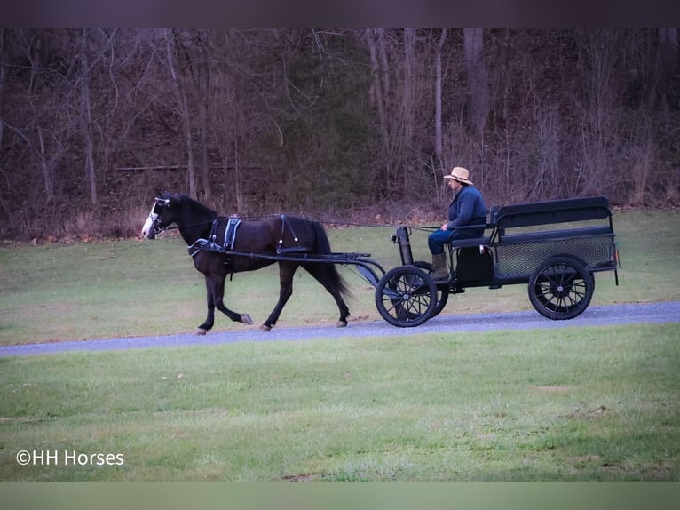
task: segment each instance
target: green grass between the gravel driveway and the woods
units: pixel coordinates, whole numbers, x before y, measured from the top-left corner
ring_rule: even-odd
[[[680,214],[626,211],[614,216],[621,252],[621,282],[597,275],[592,306],[680,299],[677,252]],[[385,269],[399,265],[392,227],[332,228],[334,251],[368,251]],[[415,259],[430,259],[427,233],[415,230]],[[374,289],[355,270],[341,267],[353,298],[351,320],[380,320]],[[226,283],[225,303],[263,323],[278,299],[276,266],[237,274]],[[532,309],[526,285],[497,291],[469,289],[452,296],[445,314]],[[177,237],[156,241],[45,244],[0,249],[0,345],[112,338],[194,331],[205,318],[205,288]],[[299,270],[293,296],[277,327],[333,324],[333,299]],[[217,312],[215,331],[240,329]]]

